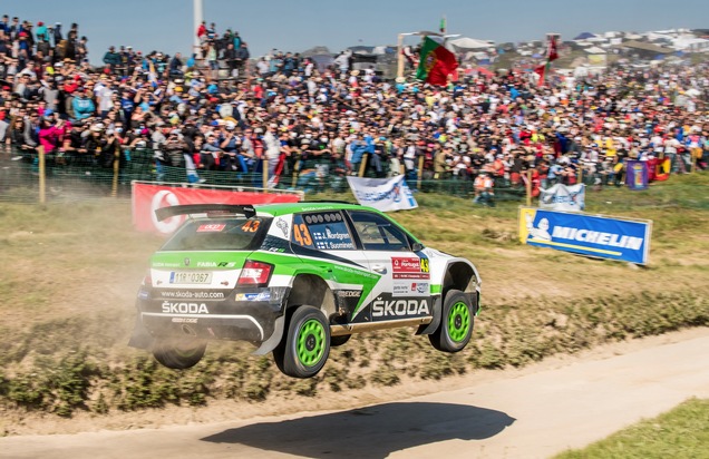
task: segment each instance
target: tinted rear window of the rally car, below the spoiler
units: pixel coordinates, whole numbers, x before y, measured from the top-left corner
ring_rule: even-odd
[[[253,251],[261,246],[271,218],[230,217],[187,221],[161,251]]]

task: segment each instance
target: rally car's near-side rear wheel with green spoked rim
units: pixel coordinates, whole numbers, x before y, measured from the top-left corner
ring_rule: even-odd
[[[330,354],[330,325],[318,307],[300,306],[288,321],[288,333],[273,350],[273,360],[283,374],[312,378]]]

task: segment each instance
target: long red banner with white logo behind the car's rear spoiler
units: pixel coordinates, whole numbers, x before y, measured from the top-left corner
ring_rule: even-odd
[[[206,189],[198,187],[183,188],[176,186],[155,185],[149,183],[133,183],[133,225],[138,231],[169,234],[177,230],[184,216],[175,216],[158,222],[155,211],[166,206],[184,204],[275,204],[298,203],[303,194],[263,193],[259,188],[243,191],[243,188],[221,187]]]

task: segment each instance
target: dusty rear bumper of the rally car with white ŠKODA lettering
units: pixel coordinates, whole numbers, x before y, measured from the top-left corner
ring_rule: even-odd
[[[145,334],[153,339],[188,335],[262,343],[278,331],[275,321],[283,315],[289,290],[250,287],[216,293],[182,290],[179,294],[190,297],[184,300],[175,299],[173,290],[142,287],[136,302],[138,320],[129,344],[146,348]]]

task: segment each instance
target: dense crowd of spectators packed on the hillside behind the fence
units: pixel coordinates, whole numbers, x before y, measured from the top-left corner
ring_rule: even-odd
[[[669,157],[681,173],[709,156],[707,64],[616,66],[543,87],[514,69],[465,69],[430,87],[347,61],[318,69],[275,50],[249,69],[239,33],[204,23],[201,49],[184,62],[111,47],[94,68],[77,25],[66,37],[58,23],[37,26],[0,23],[0,141],[25,152],[16,158],[41,146],[60,165],[110,167],[118,148],[123,167],[130,152],[149,149],[158,180],[166,167],[198,182],[203,170],[245,175],[266,164],[273,185],[286,174],[406,174],[487,188],[476,177],[513,187],[530,177],[537,193],[580,175],[619,185],[625,158]]]

